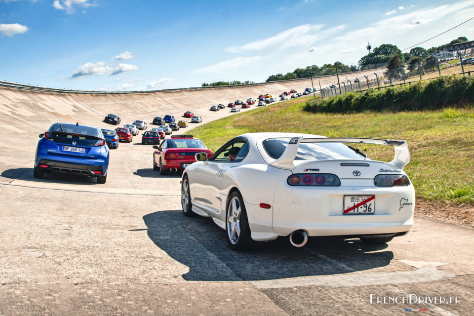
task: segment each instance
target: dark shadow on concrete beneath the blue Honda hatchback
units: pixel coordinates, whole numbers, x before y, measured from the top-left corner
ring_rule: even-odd
[[[79,174],[69,174],[62,172],[44,173],[43,178],[33,177],[33,168],[15,168],[3,171],[1,177],[13,180],[26,180],[32,182],[51,182],[65,184],[96,185],[96,177],[88,177]]]

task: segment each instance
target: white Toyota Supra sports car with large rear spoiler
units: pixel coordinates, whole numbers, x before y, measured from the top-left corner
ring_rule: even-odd
[[[344,143],[394,146],[395,157],[372,160]],[[248,133],[196,159],[183,172],[183,213],[211,217],[235,250],[278,236],[299,247],[308,236],[385,243],[413,225],[415,190],[403,171],[410,153],[402,140]]]

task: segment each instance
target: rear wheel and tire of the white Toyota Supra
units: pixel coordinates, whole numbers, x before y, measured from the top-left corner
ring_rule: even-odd
[[[256,244],[250,236],[247,211],[242,196],[237,191],[233,192],[227,201],[226,232],[227,241],[233,250],[249,250]]]

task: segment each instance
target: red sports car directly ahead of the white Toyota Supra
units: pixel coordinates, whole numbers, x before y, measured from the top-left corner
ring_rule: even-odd
[[[172,135],[165,139],[160,145],[153,146],[153,169],[159,170],[164,175],[168,171],[176,172],[184,169],[196,161],[197,153],[206,153],[207,158],[212,156],[212,151],[207,149],[204,143],[194,138],[193,135]]]

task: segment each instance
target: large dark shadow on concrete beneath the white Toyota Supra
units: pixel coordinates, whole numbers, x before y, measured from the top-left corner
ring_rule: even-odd
[[[209,218],[185,217],[181,210],[158,211],[143,217],[148,236],[170,257],[189,267],[193,281],[269,280],[299,276],[345,274],[384,267],[394,258],[387,244],[365,245],[358,239],[312,238],[296,248],[287,237],[260,242],[256,249],[233,251],[226,232]]]

